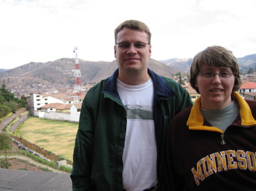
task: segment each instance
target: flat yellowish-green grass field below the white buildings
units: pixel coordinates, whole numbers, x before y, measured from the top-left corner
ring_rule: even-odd
[[[73,161],[78,124],[30,117],[18,132],[27,141]]]

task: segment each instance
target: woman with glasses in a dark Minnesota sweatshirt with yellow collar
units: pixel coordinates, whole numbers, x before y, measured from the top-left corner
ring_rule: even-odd
[[[170,190],[256,189],[256,101],[244,100],[236,57],[221,46],[198,53],[191,86],[201,96],[167,135]]]

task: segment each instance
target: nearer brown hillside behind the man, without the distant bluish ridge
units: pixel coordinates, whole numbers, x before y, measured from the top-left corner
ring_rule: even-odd
[[[82,83],[99,82],[112,75],[117,69],[117,61],[90,62],[79,60]],[[169,76],[179,70],[150,58],[150,69],[159,75]],[[7,87],[31,87],[33,84],[73,85],[75,58],[61,58],[53,62],[30,62],[10,70],[0,71],[0,80],[5,80]]]

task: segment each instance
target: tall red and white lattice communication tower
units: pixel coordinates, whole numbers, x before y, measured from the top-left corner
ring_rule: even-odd
[[[75,75],[74,91],[77,92],[77,98],[78,98],[81,95],[82,82],[81,82],[81,71],[80,71],[80,65],[79,65],[79,58],[77,57],[77,46],[75,47],[73,52],[76,54],[75,69],[73,70],[73,73]],[[78,99],[77,99],[77,101],[78,101]]]

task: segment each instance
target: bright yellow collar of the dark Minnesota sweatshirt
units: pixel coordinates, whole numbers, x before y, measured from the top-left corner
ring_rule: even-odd
[[[256,125],[256,121],[251,114],[251,109],[243,97],[237,92],[232,93],[232,97],[236,99],[240,105],[240,116],[241,116],[241,125],[251,126]],[[208,130],[208,131],[217,131],[223,133],[222,130],[213,127],[213,126],[204,126],[204,117],[200,111],[201,106],[201,97],[198,97],[191,109],[191,113],[188,117],[187,126],[190,130]]]

